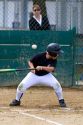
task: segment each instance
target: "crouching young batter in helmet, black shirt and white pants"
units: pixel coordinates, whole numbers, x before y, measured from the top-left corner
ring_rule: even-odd
[[[34,85],[41,84],[52,87],[58,97],[60,106],[66,107],[62,87],[52,74],[56,70],[57,58],[61,52],[59,44],[50,43],[45,52],[39,53],[29,60],[29,67],[36,69],[31,70],[18,85],[16,99],[12,100],[10,106],[19,106],[24,92]]]

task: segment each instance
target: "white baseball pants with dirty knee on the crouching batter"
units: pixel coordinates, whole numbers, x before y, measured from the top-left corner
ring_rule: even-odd
[[[38,76],[32,72],[29,72],[17,88],[16,100],[19,101],[21,96],[27,89],[38,84],[52,87],[58,99],[63,99],[62,87],[60,83],[57,81],[57,79],[51,73],[44,76]]]

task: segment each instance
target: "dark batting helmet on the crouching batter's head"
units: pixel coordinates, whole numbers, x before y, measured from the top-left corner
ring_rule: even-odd
[[[56,56],[57,54],[62,53],[61,46],[58,43],[50,43],[47,46],[47,52],[51,56]]]

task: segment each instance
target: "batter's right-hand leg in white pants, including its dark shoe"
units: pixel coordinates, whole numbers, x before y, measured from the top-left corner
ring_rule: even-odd
[[[64,98],[63,98],[63,92],[62,92],[62,87],[59,83],[59,81],[51,74],[47,74],[45,76],[40,77],[41,78],[41,82],[47,86],[50,86],[54,89],[57,97],[58,97],[58,100],[59,100],[59,103],[60,103],[60,106],[61,107],[66,107],[66,104],[65,104],[65,101],[64,101]]]

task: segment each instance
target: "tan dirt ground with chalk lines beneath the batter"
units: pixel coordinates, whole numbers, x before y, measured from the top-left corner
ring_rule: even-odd
[[[83,89],[63,89],[67,108],[59,107],[52,88],[32,87],[20,107],[10,107],[15,94],[16,88],[0,88],[0,125],[83,125]]]

